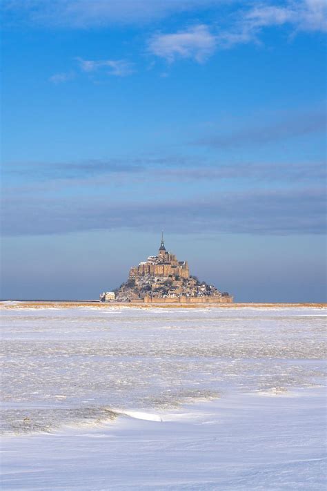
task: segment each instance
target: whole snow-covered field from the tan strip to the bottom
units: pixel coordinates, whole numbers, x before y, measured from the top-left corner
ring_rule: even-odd
[[[4,309],[3,490],[322,490],[326,310]]]

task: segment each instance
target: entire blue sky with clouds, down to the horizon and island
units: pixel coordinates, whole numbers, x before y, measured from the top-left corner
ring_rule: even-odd
[[[325,0],[4,0],[2,298],[97,298],[159,246],[323,301]]]

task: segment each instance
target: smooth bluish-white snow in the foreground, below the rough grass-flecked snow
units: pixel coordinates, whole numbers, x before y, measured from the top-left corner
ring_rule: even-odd
[[[170,421],[5,437],[2,490],[323,491],[324,392],[229,394]]]

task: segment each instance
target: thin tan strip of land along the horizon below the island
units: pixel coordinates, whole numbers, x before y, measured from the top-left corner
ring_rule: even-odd
[[[143,302],[99,302],[98,300],[6,300],[0,302],[0,309],[73,309],[76,307],[94,307],[99,309],[111,309],[113,307],[133,307],[139,309],[276,309],[289,307],[313,307],[323,309],[327,303],[208,303],[208,304],[179,304],[179,303],[143,303]]]

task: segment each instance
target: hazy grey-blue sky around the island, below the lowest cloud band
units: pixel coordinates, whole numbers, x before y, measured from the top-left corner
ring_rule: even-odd
[[[132,237],[132,243],[128,232],[21,238],[27,251],[21,256],[7,239],[3,298],[97,299],[125,281],[130,266],[157,253],[159,233]],[[317,236],[167,235],[166,247],[189,261],[191,274],[229,291],[237,302],[325,300],[324,247]]]

